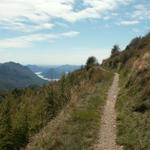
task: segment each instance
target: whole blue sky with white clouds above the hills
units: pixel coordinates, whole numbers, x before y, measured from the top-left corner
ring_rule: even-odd
[[[150,0],[0,0],[0,63],[85,64],[150,31]]]

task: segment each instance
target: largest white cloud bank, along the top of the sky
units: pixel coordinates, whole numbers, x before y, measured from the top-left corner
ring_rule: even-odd
[[[105,12],[112,11],[120,4],[131,0],[0,0],[0,28],[35,31],[51,29],[53,19],[68,22],[81,19],[100,18]],[[85,7],[75,11],[80,2]],[[34,24],[34,26],[30,25]],[[31,29],[28,29],[31,27]],[[24,30],[23,30],[24,29]]]

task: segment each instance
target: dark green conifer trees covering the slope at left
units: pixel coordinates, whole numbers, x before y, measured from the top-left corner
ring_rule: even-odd
[[[80,94],[105,75],[99,67],[80,69],[43,87],[14,90],[0,94],[0,149],[16,150],[24,147],[31,136]]]

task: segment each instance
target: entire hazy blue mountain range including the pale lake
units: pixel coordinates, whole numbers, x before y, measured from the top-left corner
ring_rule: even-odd
[[[62,75],[79,69],[80,66],[23,66],[15,62],[0,64],[0,91],[43,85],[46,80],[60,79]],[[38,74],[37,74],[38,73]]]

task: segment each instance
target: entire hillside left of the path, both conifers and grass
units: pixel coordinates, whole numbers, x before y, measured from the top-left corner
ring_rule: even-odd
[[[94,66],[44,87],[1,94],[0,149],[16,150],[28,142],[27,149],[36,150],[92,146],[111,77]]]

